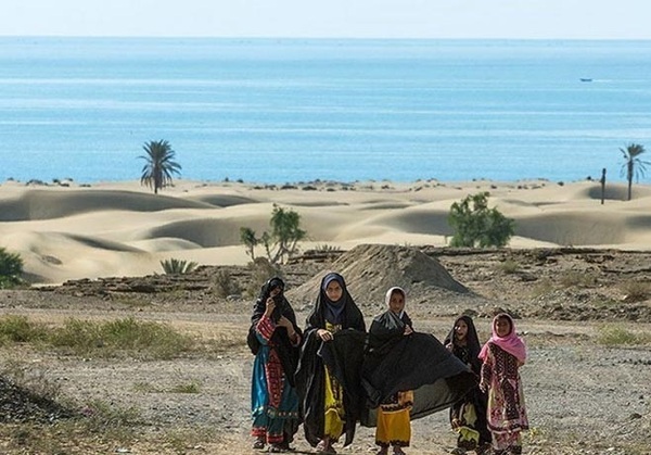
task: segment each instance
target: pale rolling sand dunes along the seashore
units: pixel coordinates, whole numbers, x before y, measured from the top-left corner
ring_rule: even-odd
[[[164,258],[245,264],[240,227],[269,229],[273,204],[292,208],[308,232],[303,249],[360,243],[445,245],[449,207],[468,194],[516,224],[512,248],[651,248],[651,187],[595,181],[557,185],[311,184],[292,189],[233,182],[177,181],[153,194],[138,181],[69,187],[0,185],[0,245],[21,254],[37,283],[161,273]],[[258,254],[263,254],[260,251]]]

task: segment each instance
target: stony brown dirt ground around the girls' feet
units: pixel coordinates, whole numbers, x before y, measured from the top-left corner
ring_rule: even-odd
[[[404,264],[394,257],[367,268],[376,270],[380,279],[404,271],[386,282],[382,293],[400,277],[412,279],[418,292],[407,309],[417,330],[443,339],[455,316],[465,312],[474,316],[485,340],[495,311],[508,309],[518,317],[528,349],[528,362],[521,370],[532,425],[524,438],[525,454],[651,454],[651,344],[646,338],[651,333],[651,294],[640,291],[651,281],[651,253],[422,249],[425,260],[403,250]],[[365,252],[350,253],[359,255],[359,263]],[[372,277],[358,279],[363,277],[344,266],[355,260],[312,254],[282,268],[289,288],[295,290],[288,294],[293,295],[298,320],[305,319],[310,305],[303,286],[327,269],[344,274],[367,318],[383,309]],[[417,269],[430,270],[430,260],[469,292],[419,287]],[[238,294],[219,296],[222,280],[216,277],[224,270],[238,283]],[[361,285],[365,280],[372,289]],[[359,285],[353,288],[352,282]],[[252,268],[204,267],[183,277],[82,280],[50,289],[0,291],[0,314],[23,314],[52,325],[69,317],[135,317],[166,323],[202,339],[224,340],[224,349],[210,354],[171,361],[79,358],[31,346],[2,349],[1,358],[5,365],[24,365],[30,374],[47,377],[77,403],[98,400],[115,408],[138,409],[140,437],[120,444],[101,438],[94,445],[71,440],[60,453],[252,454],[253,356],[244,339],[254,300],[250,293],[259,283]],[[612,328],[646,341],[604,344],[601,337]],[[196,384],[193,393],[175,391],[188,383]],[[413,421],[412,430],[410,454],[445,454],[455,446],[445,412]],[[294,445],[299,453],[311,453],[302,431]],[[16,441],[0,442],[0,453],[29,453],[16,447]],[[350,446],[335,447],[342,454],[373,453],[373,429],[358,428]]]

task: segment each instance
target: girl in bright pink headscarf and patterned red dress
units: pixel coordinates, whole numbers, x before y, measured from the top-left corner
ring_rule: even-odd
[[[519,368],[526,361],[524,342],[513,319],[500,313],[493,319],[493,336],[480,352],[480,389],[488,392],[488,429],[496,455],[522,454],[521,431],[528,429]]]

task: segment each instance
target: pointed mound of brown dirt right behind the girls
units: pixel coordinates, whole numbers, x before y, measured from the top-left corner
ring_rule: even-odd
[[[314,304],[321,279],[331,270],[345,278],[355,302],[368,308],[383,308],[386,290],[394,286],[407,291],[409,302],[431,299],[442,292],[469,293],[435,257],[419,249],[361,244],[342,254],[330,270],[322,270],[301,287],[289,290],[288,298],[298,308]]]

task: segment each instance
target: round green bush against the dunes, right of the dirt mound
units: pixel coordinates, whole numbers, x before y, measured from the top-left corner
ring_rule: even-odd
[[[451,247],[505,247],[513,237],[515,222],[497,208],[488,208],[488,192],[468,195],[450,206],[448,223],[455,235]]]

